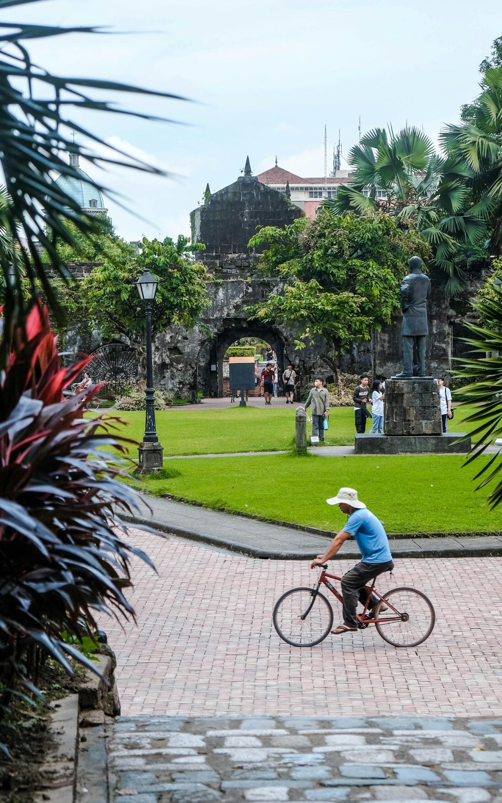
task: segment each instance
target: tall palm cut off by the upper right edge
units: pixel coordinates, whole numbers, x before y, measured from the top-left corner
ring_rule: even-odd
[[[468,200],[480,210],[490,234],[490,254],[502,255],[502,67],[490,68],[469,106],[470,119],[441,133],[448,157],[462,162]]]

